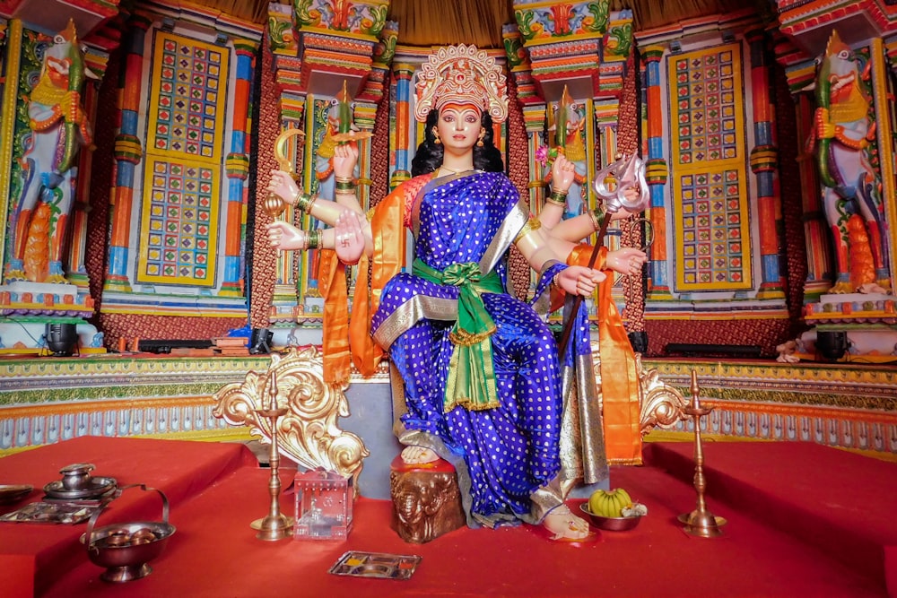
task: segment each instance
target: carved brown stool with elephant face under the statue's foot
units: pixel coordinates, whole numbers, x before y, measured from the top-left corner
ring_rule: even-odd
[[[457,475],[448,461],[406,464],[398,455],[389,470],[390,527],[402,540],[423,544],[466,525]]]

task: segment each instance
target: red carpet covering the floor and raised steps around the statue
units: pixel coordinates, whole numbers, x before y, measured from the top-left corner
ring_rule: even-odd
[[[248,524],[266,515],[269,471],[246,464],[242,446],[109,438],[65,445],[0,459],[0,483],[39,488],[65,464],[89,461],[119,483],[164,490],[178,531],[152,562],[152,575],[109,585],[77,542],[83,525],[0,524],[0,596],[23,595],[10,592],[33,574],[28,557],[35,552],[34,594],[54,597],[845,598],[888,596],[886,579],[894,573],[884,551],[897,544],[897,464],[823,446],[705,445],[708,507],[728,520],[723,538],[707,540],[685,534],[675,519],[695,504],[691,446],[649,445],[648,465],[614,468],[611,477],[649,515],[631,532],[603,532],[598,542],[576,546],[528,527],[462,529],[408,544],[389,529],[390,504],[364,498],[345,542],[261,542]],[[129,492],[137,496],[126,500]],[[35,491],[29,499],[37,498]],[[289,497],[282,505],[292,513]],[[128,490],[100,524],[158,519],[159,509],[158,496]],[[346,550],[415,554],[422,561],[408,581],[327,573]]]

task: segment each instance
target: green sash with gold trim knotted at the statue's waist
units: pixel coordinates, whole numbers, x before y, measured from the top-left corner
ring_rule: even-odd
[[[483,274],[475,262],[452,264],[443,272],[432,269],[420,258],[414,260],[412,273],[430,282],[458,287],[457,322],[448,337],[454,343],[448,365],[448,383],[443,403],[446,413],[462,405],[479,411],[499,405],[492,366],[492,342],[495,322],[483,306],[480,293],[502,293],[501,278],[495,272]]]

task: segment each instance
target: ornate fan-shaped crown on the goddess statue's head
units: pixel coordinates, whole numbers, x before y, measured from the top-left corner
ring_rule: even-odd
[[[433,108],[472,102],[496,123],[508,117],[508,89],[501,66],[475,46],[440,48],[417,75],[414,117],[424,122]]]

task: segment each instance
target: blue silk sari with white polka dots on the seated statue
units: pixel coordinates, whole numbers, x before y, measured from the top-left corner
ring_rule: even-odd
[[[507,289],[507,248],[520,230],[510,220],[525,221],[519,201],[517,188],[501,173],[432,181],[414,208],[419,214],[414,256],[441,272],[467,262],[482,269],[489,253],[496,252],[492,268]],[[508,240],[494,242],[497,237]],[[563,267],[547,269],[540,290]],[[469,523],[531,521],[531,494],[553,481],[561,466],[557,344],[529,305],[507,292],[483,293],[483,305],[496,324],[490,340],[500,406],[444,412],[457,297],[457,287],[411,273],[396,275],[381,295],[372,333],[388,349],[405,384],[400,440],[428,446],[456,465]]]

